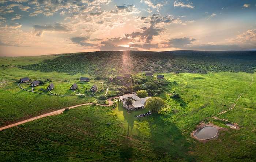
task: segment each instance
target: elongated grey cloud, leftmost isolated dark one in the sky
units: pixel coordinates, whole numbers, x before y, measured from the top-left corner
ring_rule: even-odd
[[[54,25],[34,25],[34,33],[36,36],[41,37],[45,31],[59,31],[59,32],[69,32],[71,29],[69,29],[67,26],[60,24],[60,23],[54,23]]]

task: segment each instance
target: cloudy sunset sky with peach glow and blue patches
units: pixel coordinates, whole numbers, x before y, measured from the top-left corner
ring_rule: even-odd
[[[0,0],[0,56],[256,50],[256,0]]]

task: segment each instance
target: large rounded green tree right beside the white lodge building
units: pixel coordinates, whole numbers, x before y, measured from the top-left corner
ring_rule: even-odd
[[[165,108],[166,104],[160,97],[152,97],[147,99],[145,108],[150,109],[151,112],[157,113],[162,108]]]

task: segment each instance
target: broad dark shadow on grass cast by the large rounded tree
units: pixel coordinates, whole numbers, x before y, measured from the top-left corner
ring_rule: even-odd
[[[196,161],[188,154],[191,144],[174,123],[164,121],[159,114],[149,117],[151,146],[157,158],[163,161]]]

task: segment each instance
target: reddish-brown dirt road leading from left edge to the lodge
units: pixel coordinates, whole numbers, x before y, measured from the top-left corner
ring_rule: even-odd
[[[98,104],[98,103],[96,103],[96,105],[98,105],[98,106],[105,106],[105,107],[112,106],[113,102],[111,101],[111,99],[112,98],[108,98],[108,102],[109,102],[108,105],[101,105],[101,104]],[[84,105],[93,105],[93,103],[82,103],[82,104],[79,104],[79,105],[69,106],[67,108],[62,108],[60,110],[56,110],[56,111],[53,111],[53,112],[50,112],[50,113],[46,113],[46,114],[42,114],[42,115],[39,115],[39,116],[36,116],[36,117],[32,117],[32,118],[29,118],[29,119],[26,119],[26,120],[23,120],[23,121],[14,123],[14,124],[10,124],[10,125],[6,125],[4,127],[1,127],[0,131],[3,131],[4,129],[8,129],[8,128],[11,128],[11,127],[15,127],[15,126],[18,126],[20,124],[24,124],[24,123],[27,123],[27,122],[30,122],[30,121],[33,121],[33,120],[37,120],[37,119],[40,119],[40,118],[43,118],[43,117],[61,114],[61,113],[63,113],[65,111],[65,109],[73,109],[73,108],[77,108],[79,106],[84,106]]]

